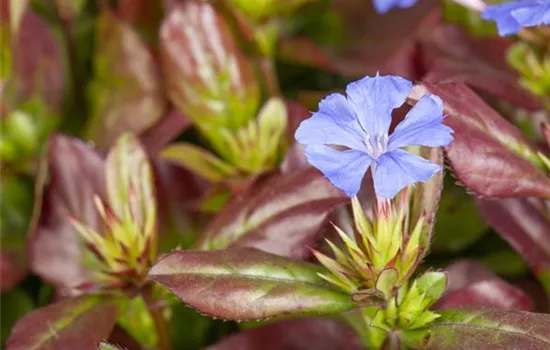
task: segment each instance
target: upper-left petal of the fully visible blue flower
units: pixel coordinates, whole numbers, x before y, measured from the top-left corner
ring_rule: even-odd
[[[341,94],[323,99],[319,103],[319,111],[300,123],[294,137],[304,145],[332,144],[365,150],[366,135]]]

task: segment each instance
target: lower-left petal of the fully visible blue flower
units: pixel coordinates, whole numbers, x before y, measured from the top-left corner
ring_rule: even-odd
[[[372,159],[356,150],[337,151],[323,145],[307,145],[305,154],[309,164],[319,169],[337,188],[353,197]]]

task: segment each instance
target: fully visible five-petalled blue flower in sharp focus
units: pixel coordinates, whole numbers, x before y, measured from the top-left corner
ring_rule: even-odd
[[[381,197],[393,198],[409,184],[428,181],[440,166],[401,147],[444,146],[453,140],[453,131],[442,124],[441,99],[426,94],[388,135],[392,110],[405,102],[411,89],[410,81],[388,75],[349,84],[347,97],[327,96],[319,111],[296,130],[308,162],[350,197],[359,191],[370,166]]]

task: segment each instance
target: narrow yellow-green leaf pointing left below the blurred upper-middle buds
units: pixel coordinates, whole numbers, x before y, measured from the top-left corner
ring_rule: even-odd
[[[166,147],[161,155],[166,160],[213,182],[238,174],[237,169],[232,165],[212,153],[186,142],[178,142]]]

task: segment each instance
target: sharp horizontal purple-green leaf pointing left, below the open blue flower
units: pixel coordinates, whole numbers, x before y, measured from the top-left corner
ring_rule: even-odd
[[[201,313],[230,320],[291,313],[330,314],[354,307],[318,273],[324,269],[254,248],[175,251],[149,277]]]

